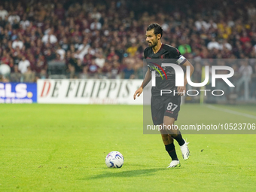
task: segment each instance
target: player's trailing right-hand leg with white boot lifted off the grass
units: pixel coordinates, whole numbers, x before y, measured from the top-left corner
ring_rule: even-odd
[[[184,160],[187,160],[190,156],[190,151],[187,147],[188,142],[186,142],[182,138],[181,132],[178,130],[177,126],[174,126],[174,122],[175,122],[175,118],[173,117],[168,117],[168,116],[163,117],[163,124],[170,128],[170,130],[168,130],[169,136],[172,136],[172,138],[178,142],[178,145],[180,145],[180,148],[181,148],[182,157]]]

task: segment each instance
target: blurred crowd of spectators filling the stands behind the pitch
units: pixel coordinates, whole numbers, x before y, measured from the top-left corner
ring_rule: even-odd
[[[150,23],[159,23],[163,43],[187,59],[256,57],[253,1],[2,1],[0,72],[11,74],[0,81],[34,82],[53,75],[143,78]],[[195,73],[200,75],[198,63]],[[253,61],[232,67],[241,78],[254,79]]]

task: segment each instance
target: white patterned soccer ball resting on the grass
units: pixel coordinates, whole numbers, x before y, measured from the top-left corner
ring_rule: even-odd
[[[118,151],[111,151],[107,157],[105,157],[105,164],[108,167],[121,168],[123,166],[123,155]]]

